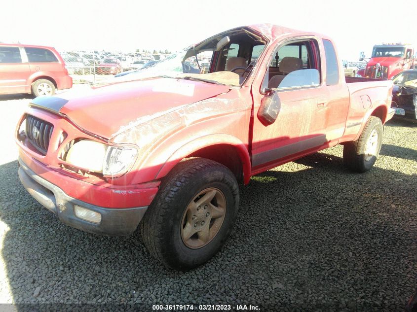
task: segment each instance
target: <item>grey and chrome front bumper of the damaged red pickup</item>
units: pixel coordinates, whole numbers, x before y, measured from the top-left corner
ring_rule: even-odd
[[[55,213],[65,224],[101,235],[123,236],[135,231],[147,206],[137,208],[103,208],[68,196],[58,186],[34,173],[19,158],[19,178],[26,190],[45,208]],[[82,220],[75,215],[74,206],[81,206],[101,214],[100,223]]]

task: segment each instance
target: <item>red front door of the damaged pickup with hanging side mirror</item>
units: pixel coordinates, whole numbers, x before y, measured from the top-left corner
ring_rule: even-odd
[[[321,64],[319,40],[311,37],[291,38],[280,43],[271,53],[262,86],[265,88],[276,75],[284,79],[278,86],[266,93],[276,93],[280,100],[276,120],[267,124],[260,116],[260,106],[268,94],[263,88],[253,84],[254,122],[252,139],[253,172],[273,168],[281,163],[296,159],[308,150],[326,143],[327,89],[320,81]],[[295,70],[280,69],[284,57],[302,59],[302,66]],[[271,71],[269,70],[271,69]],[[293,70],[290,73],[286,71]],[[272,74],[271,74],[272,72]],[[308,75],[314,72],[315,81]],[[282,78],[282,77],[281,77]],[[272,80],[271,80],[272,79]],[[278,79],[279,80],[279,79]]]

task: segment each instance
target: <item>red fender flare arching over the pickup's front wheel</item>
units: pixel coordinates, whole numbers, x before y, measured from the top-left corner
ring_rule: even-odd
[[[243,182],[249,183],[251,173],[251,160],[248,147],[238,138],[227,134],[212,134],[194,139],[177,149],[160,168],[155,179],[160,179],[167,175],[181,160],[198,150],[214,145],[230,145],[234,147],[240,157],[243,171]]]

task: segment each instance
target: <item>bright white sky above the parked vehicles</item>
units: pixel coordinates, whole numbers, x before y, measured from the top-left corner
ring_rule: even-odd
[[[417,46],[410,0],[2,1],[0,41],[58,50],[177,50],[224,30],[272,23],[333,37],[342,59],[381,42]]]

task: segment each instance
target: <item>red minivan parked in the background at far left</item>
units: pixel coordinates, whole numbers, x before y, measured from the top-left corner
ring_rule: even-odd
[[[54,95],[56,89],[72,86],[73,79],[54,48],[0,43],[0,94]]]

